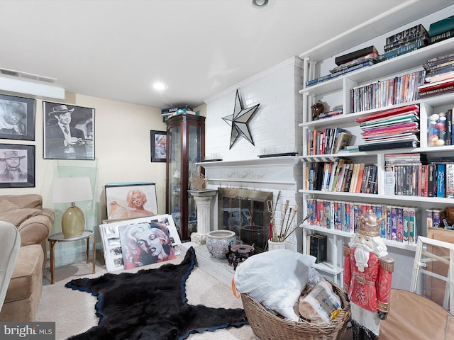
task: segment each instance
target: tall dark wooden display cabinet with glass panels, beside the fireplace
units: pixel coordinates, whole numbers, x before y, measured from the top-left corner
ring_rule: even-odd
[[[205,157],[205,117],[175,115],[167,123],[166,211],[171,214],[182,241],[197,231],[196,205],[189,195],[189,179],[196,176],[196,162]]]

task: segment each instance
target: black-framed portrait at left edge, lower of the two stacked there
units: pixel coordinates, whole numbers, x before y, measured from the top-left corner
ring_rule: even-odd
[[[0,188],[35,186],[35,145],[0,144]]]

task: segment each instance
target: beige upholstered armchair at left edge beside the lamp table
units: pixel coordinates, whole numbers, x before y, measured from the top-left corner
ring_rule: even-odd
[[[54,219],[52,209],[43,209],[40,195],[0,196],[0,221],[12,223],[21,235],[21,248],[6,291],[0,321],[35,321],[43,290],[43,249]]]

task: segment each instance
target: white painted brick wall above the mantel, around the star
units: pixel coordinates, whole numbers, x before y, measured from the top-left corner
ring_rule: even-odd
[[[256,159],[265,148],[275,153],[300,151],[302,130],[295,127],[302,121],[301,79],[301,60],[293,57],[207,98],[206,157],[232,161]],[[249,125],[255,146],[240,137],[229,149],[231,127],[222,118],[233,114],[236,89],[245,108],[258,103],[260,107]]]

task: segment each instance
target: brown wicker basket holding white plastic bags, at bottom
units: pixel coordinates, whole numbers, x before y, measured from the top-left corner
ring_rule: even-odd
[[[241,294],[243,307],[248,317],[250,328],[261,340],[341,340],[350,321],[350,302],[346,300],[344,291],[336,284],[333,290],[341,298],[342,310],[331,322],[311,324],[310,322],[292,322],[284,320],[268,312],[259,302],[247,294]]]

